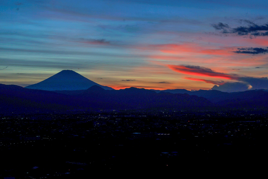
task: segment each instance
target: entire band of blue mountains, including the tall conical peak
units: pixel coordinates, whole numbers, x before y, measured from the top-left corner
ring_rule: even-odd
[[[72,70],[63,70],[24,88],[0,84],[0,99],[0,112],[16,113],[108,109],[268,109],[267,90],[233,93],[135,87],[114,90]]]

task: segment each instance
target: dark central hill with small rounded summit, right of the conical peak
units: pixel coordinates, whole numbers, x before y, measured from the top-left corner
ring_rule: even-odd
[[[91,101],[113,103],[117,108],[192,108],[213,105],[205,98],[188,94],[156,93],[143,88],[126,88],[120,90],[103,90],[92,86],[84,93],[77,94]]]

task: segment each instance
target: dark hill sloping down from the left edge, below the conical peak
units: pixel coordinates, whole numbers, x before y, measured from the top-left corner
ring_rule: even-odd
[[[66,111],[78,106],[74,97],[55,92],[0,84],[1,112]]]

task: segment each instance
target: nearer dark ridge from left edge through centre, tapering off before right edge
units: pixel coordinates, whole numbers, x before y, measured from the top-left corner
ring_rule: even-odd
[[[99,109],[192,109],[213,107],[209,100],[188,94],[156,93],[135,87],[105,90],[91,86],[79,94],[27,89],[0,84],[0,112],[64,112]]]

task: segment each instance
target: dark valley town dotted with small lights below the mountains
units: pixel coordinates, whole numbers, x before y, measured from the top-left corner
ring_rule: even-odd
[[[267,161],[267,111],[105,111],[0,123],[0,179],[223,175],[262,171]]]

